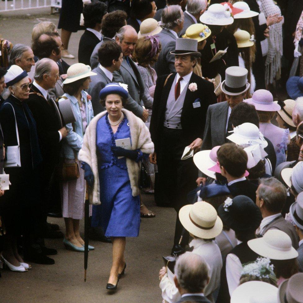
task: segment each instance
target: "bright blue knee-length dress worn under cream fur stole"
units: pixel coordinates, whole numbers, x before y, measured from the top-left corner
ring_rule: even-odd
[[[108,114],[97,122],[97,157],[101,205],[93,206],[92,226],[102,226],[107,237],[138,237],[140,198],[132,196],[126,158],[118,159],[111,151],[116,139],[130,138],[127,118],[114,134]]]

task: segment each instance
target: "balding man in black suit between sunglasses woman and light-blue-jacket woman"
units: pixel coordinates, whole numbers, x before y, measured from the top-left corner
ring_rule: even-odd
[[[30,88],[28,106],[33,113],[37,124],[38,138],[43,156],[41,210],[39,211],[41,226],[43,226],[43,224],[46,224],[47,219],[51,180],[53,178],[55,166],[59,163],[60,142],[62,138],[66,137],[67,130],[65,127],[62,127],[57,105],[54,100],[49,97],[47,92],[48,89],[55,87],[55,84],[59,79],[59,68],[57,63],[48,58],[39,60],[36,64],[34,79]],[[43,239],[41,239],[40,245],[42,246],[44,255],[57,253],[56,250],[43,248]],[[36,257],[38,258],[39,256],[28,256],[28,260],[33,260],[34,262]],[[46,262],[52,260],[48,259],[46,259]]]

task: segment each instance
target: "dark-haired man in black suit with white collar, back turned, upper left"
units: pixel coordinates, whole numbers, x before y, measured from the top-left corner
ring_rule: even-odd
[[[101,22],[107,13],[106,4],[100,1],[89,3],[83,8],[85,31],[80,38],[78,49],[79,63],[90,64],[90,56],[97,45],[102,40]]]

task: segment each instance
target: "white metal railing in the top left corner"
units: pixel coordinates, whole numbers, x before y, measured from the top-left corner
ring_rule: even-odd
[[[62,0],[5,0],[0,1],[0,12],[18,11],[43,7],[60,8]]]

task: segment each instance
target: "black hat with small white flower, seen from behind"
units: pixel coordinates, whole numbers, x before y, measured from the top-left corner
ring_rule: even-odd
[[[251,198],[240,195],[227,198],[218,208],[223,224],[234,231],[255,231],[262,221],[261,211]]]

